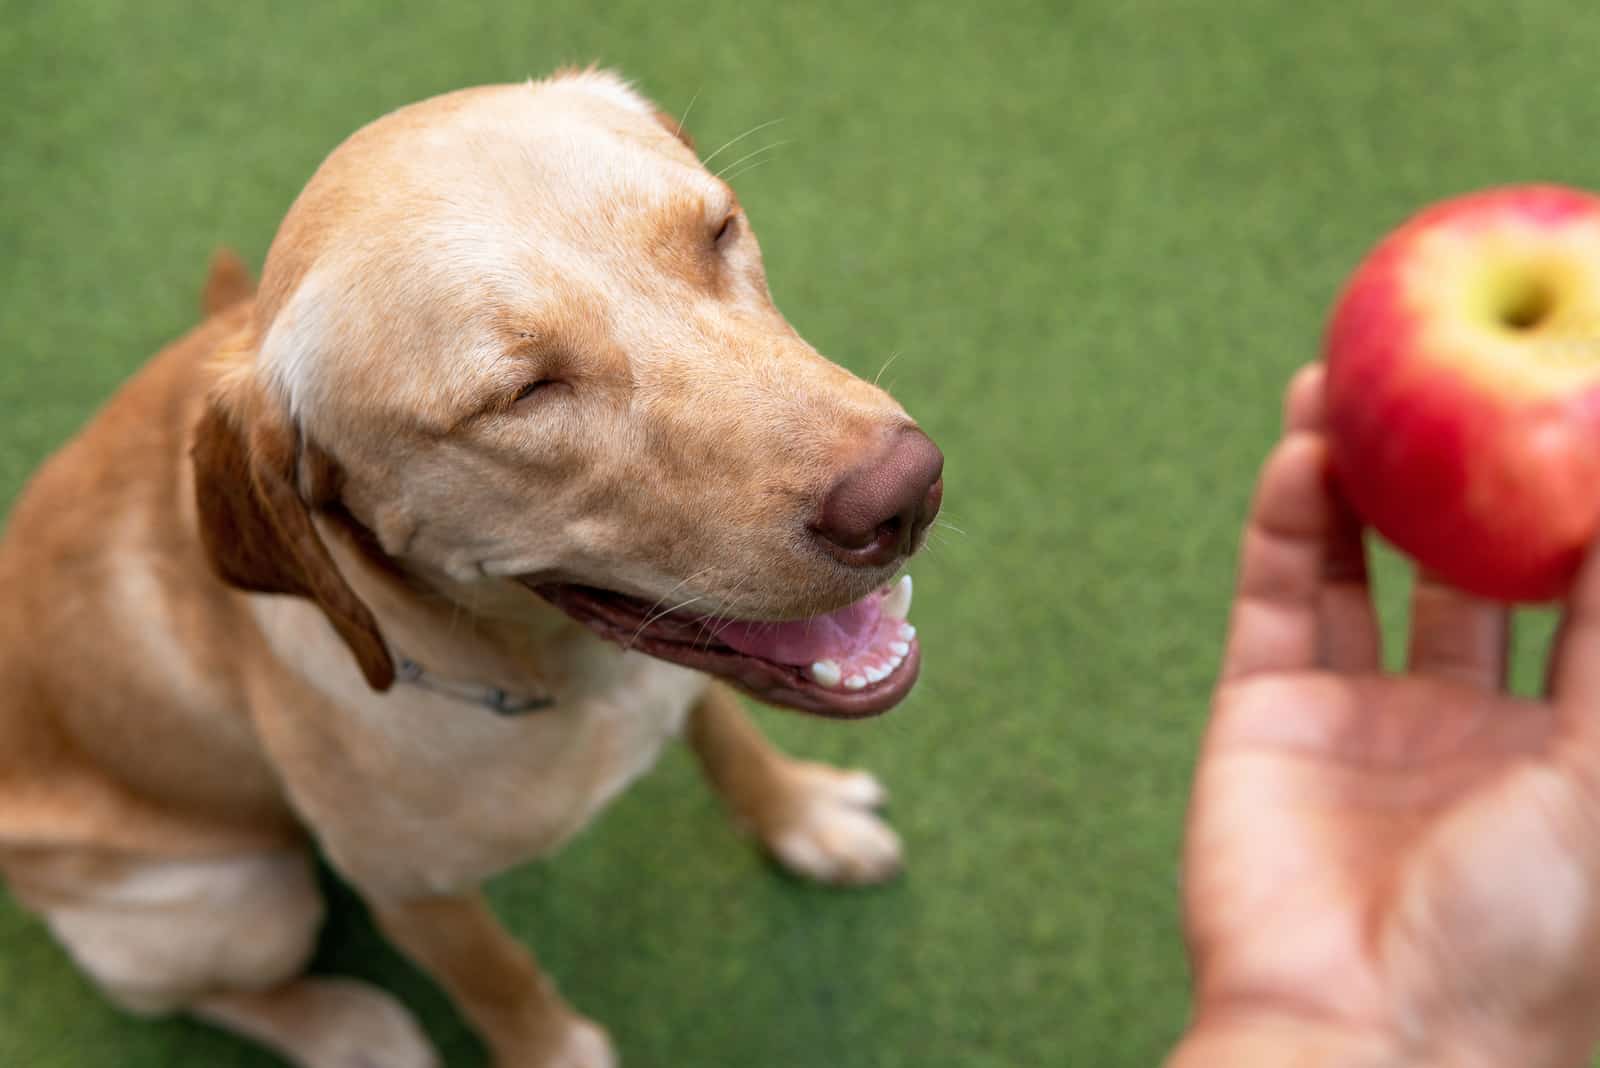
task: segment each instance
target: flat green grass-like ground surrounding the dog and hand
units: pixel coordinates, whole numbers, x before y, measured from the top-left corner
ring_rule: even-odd
[[[885,381],[944,446],[965,534],[914,568],[904,707],[762,719],[890,782],[909,875],[776,875],[674,751],[493,900],[629,1065],[1152,1065],[1184,1022],[1179,827],[1278,390],[1419,205],[1600,185],[1595,56],[1592,6],[1558,0],[6,0],[0,500],[194,321],[210,249],[259,264],[387,109],[598,59],[694,99],[706,150],[781,118],[739,179],[773,291],[864,374],[899,353]],[[330,889],[320,966],[483,1063]],[[115,1014],[0,899],[0,1065],[173,1063],[274,1062]]]

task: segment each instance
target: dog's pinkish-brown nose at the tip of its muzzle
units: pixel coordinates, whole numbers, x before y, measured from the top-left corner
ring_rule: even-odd
[[[944,454],[915,427],[894,433],[883,451],[845,475],[822,499],[811,529],[840,563],[877,568],[912,550],[939,515]]]

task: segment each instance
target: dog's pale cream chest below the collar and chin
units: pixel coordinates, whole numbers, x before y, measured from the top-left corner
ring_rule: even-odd
[[[538,711],[501,716],[418,686],[339,686],[323,691],[339,705],[333,723],[269,716],[264,734],[346,875],[373,891],[440,894],[571,838],[654,763],[707,684],[606,649],[581,689]]]

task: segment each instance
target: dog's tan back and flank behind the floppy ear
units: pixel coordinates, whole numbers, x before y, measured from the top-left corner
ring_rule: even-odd
[[[205,365],[250,313],[219,254],[176,341],[62,446],[0,540],[0,865],[42,849],[163,854],[293,835],[246,715],[254,625],[194,521]],[[224,310],[226,309],[226,310]]]

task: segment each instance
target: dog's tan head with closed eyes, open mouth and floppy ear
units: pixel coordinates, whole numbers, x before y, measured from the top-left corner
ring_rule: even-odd
[[[600,72],[467,90],[342,144],[285,219],[198,430],[221,572],[371,612],[310,516],[435,590],[518,584],[774,703],[869,715],[918,667],[893,584],[942,457],[766,291],[726,182]]]

